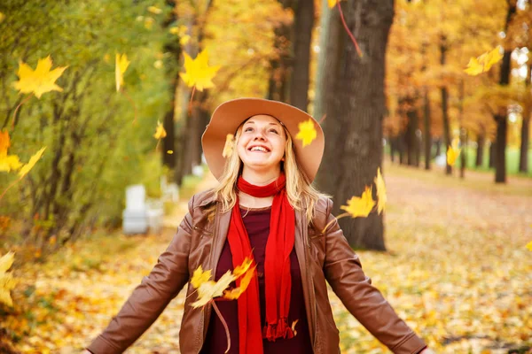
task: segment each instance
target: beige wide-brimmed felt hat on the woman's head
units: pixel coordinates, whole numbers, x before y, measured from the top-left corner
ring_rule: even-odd
[[[215,175],[215,178],[220,181],[222,177],[225,166],[225,158],[223,158],[222,153],[227,135],[234,135],[244,120],[258,114],[272,116],[285,125],[292,137],[298,164],[309,181],[314,181],[325,149],[325,137],[322,128],[316,119],[299,108],[261,98],[238,98],[227,101],[220,104],[213,112],[201,137],[201,145],[208,168]],[[314,123],[317,137],[303,148],[303,142],[300,139],[295,139],[295,136],[299,132],[298,125],[309,119]]]

